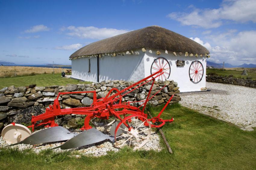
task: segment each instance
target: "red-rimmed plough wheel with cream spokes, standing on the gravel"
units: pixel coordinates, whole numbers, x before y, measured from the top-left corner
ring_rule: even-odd
[[[147,122],[148,126],[144,125],[145,122]],[[127,128],[124,123],[126,123],[129,128]],[[148,142],[150,135],[150,122],[141,115],[130,115],[125,117],[123,121],[117,125],[114,137],[119,148],[128,146],[138,149]]]

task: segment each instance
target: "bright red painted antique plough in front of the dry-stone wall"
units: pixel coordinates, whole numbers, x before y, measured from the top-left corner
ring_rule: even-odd
[[[35,127],[44,125],[45,127],[57,127],[58,124],[55,122],[55,117],[60,115],[70,115],[70,114],[76,114],[76,115],[86,115],[86,118],[84,119],[84,126],[81,128],[81,130],[86,130],[82,135],[80,134],[74,134],[72,137],[70,137],[70,140],[68,140],[66,145],[60,146],[61,149],[67,149],[67,148],[75,148],[79,146],[84,146],[85,144],[92,144],[95,142],[99,142],[98,140],[88,140],[84,139],[87,142],[81,142],[79,145],[75,145],[75,141],[82,140],[82,137],[88,137],[88,136],[94,136],[97,138],[96,129],[92,129],[92,124],[90,125],[90,122],[92,122],[93,119],[98,118],[101,120],[110,120],[110,118],[114,118],[114,121],[111,121],[108,125],[112,124],[112,127],[110,129],[110,137],[105,136],[102,137],[102,139],[110,139],[112,141],[115,141],[119,147],[122,147],[123,145],[133,145],[135,148],[140,148],[149,140],[149,137],[151,135],[151,127],[162,127],[165,122],[173,122],[173,118],[170,118],[169,120],[163,120],[160,118],[162,112],[167,107],[169,102],[172,100],[173,95],[170,97],[170,99],[165,104],[164,108],[159,112],[158,116],[153,118],[148,118],[148,115],[144,113],[146,104],[148,101],[154,97],[159,91],[161,91],[164,87],[168,86],[168,84],[165,84],[163,88],[161,88],[157,93],[155,93],[153,96],[151,96],[151,90],[153,88],[155,79],[159,76],[161,76],[164,73],[163,69],[160,69],[158,72],[140,80],[139,82],[136,82],[129,87],[126,87],[122,90],[118,90],[117,88],[112,88],[106,97],[97,99],[96,91],[79,91],[79,92],[63,92],[59,93],[57,98],[54,100],[54,104],[50,105],[49,108],[46,108],[45,113],[38,115],[38,116],[32,116],[32,125],[28,126],[27,128],[32,128],[32,131],[34,131]],[[122,98],[129,94],[130,92],[134,91],[135,89],[138,89],[139,87],[145,85],[146,83],[152,81],[151,88],[148,92],[148,95],[145,100],[136,101],[139,102],[141,105],[139,107],[132,106],[131,104],[133,102],[126,102],[122,103]],[[70,108],[70,109],[61,109],[60,103],[59,103],[59,97],[60,95],[65,94],[77,94],[77,93],[93,93],[93,102],[92,105],[89,107],[80,107],[80,108]],[[151,96],[151,97],[150,97]],[[15,126],[15,124],[13,124]],[[9,125],[8,125],[9,126]],[[49,128],[50,129],[50,128]],[[60,128],[59,128],[60,129]],[[94,128],[93,128],[94,129]],[[41,130],[44,131],[44,130]],[[39,131],[39,132],[41,132]],[[48,130],[49,131],[49,130]],[[89,133],[91,132],[91,133]],[[42,135],[51,135],[51,132],[47,132],[47,134],[43,134],[44,132],[41,132]],[[61,141],[61,133],[58,132],[60,136]],[[63,133],[66,134],[66,131]],[[36,134],[36,133],[35,133]],[[34,135],[34,134],[33,134]],[[34,138],[31,135],[32,141],[34,141]],[[56,134],[55,134],[56,135]],[[63,134],[62,134],[63,135]],[[64,135],[65,136],[65,135]],[[75,136],[75,137],[74,137]],[[17,134],[16,134],[17,137]],[[47,138],[47,136],[44,136]],[[38,138],[38,137],[37,137]],[[17,137],[16,144],[24,143]],[[67,139],[65,139],[67,140]],[[134,140],[134,142],[133,142]],[[31,140],[29,140],[31,141]],[[70,141],[70,142],[69,142]],[[37,141],[34,143],[40,143],[41,141]],[[48,142],[48,141],[47,141]],[[54,141],[50,142],[56,142],[56,139]],[[31,143],[31,142],[30,142]],[[30,144],[28,142],[28,144]],[[33,143],[33,144],[34,144]],[[70,143],[70,144],[69,144]],[[135,144],[136,143],[136,144]],[[26,143],[27,144],[27,143]],[[14,144],[15,145],[15,144]],[[69,145],[67,147],[67,145]]]

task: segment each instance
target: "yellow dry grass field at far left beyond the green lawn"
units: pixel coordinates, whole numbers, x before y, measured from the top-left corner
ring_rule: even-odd
[[[63,68],[54,68],[54,73],[61,73]],[[22,66],[0,66],[0,77],[35,76],[38,74],[49,74],[53,68],[46,67],[22,67]]]

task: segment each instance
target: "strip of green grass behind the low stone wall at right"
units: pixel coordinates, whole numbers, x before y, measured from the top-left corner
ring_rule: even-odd
[[[248,75],[247,76],[243,76],[241,75],[242,71],[235,71],[235,70],[219,70],[219,69],[206,69],[206,74],[208,75],[208,73],[215,73],[217,74],[218,76],[229,76],[229,75],[233,75],[233,77],[236,77],[236,78],[244,78],[246,79],[246,77],[251,77],[252,79],[256,80],[256,73],[250,73],[250,72],[247,72]]]

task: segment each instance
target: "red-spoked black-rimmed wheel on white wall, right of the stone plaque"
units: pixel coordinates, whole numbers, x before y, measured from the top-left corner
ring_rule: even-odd
[[[198,83],[204,75],[204,67],[200,61],[193,61],[189,67],[190,81]]]

